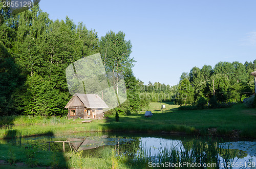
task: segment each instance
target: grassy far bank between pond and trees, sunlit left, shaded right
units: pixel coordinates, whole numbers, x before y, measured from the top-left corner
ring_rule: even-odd
[[[20,136],[61,134],[63,132],[91,131],[133,131],[167,132],[199,135],[225,135],[256,138],[256,110],[245,108],[242,104],[231,108],[207,110],[178,110],[177,105],[151,103],[152,117],[144,117],[144,111],[130,116],[97,119],[92,123],[82,124],[81,119],[67,120],[63,117],[0,117],[0,138]]]

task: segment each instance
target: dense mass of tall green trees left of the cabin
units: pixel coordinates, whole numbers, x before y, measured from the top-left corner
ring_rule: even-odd
[[[97,33],[68,17],[52,21],[39,6],[11,17],[1,11],[0,113],[66,114],[65,69],[99,51]]]

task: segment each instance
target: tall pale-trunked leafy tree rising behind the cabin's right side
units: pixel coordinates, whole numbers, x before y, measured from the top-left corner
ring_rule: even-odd
[[[99,42],[100,54],[105,67],[105,70],[112,79],[113,88],[118,94],[118,80],[130,74],[135,60],[130,58],[132,53],[131,41],[125,40],[125,34],[118,32],[115,34],[113,31],[108,32],[102,36]]]

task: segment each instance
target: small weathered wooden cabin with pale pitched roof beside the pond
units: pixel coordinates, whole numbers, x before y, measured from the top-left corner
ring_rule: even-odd
[[[103,109],[109,106],[98,94],[75,93],[65,108],[69,109],[68,119],[92,119],[104,117]]]

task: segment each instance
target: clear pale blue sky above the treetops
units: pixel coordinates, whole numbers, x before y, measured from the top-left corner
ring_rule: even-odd
[[[220,61],[256,59],[256,1],[50,1],[42,11],[66,16],[104,36],[122,31],[133,45],[134,75],[175,85],[183,72]]]

